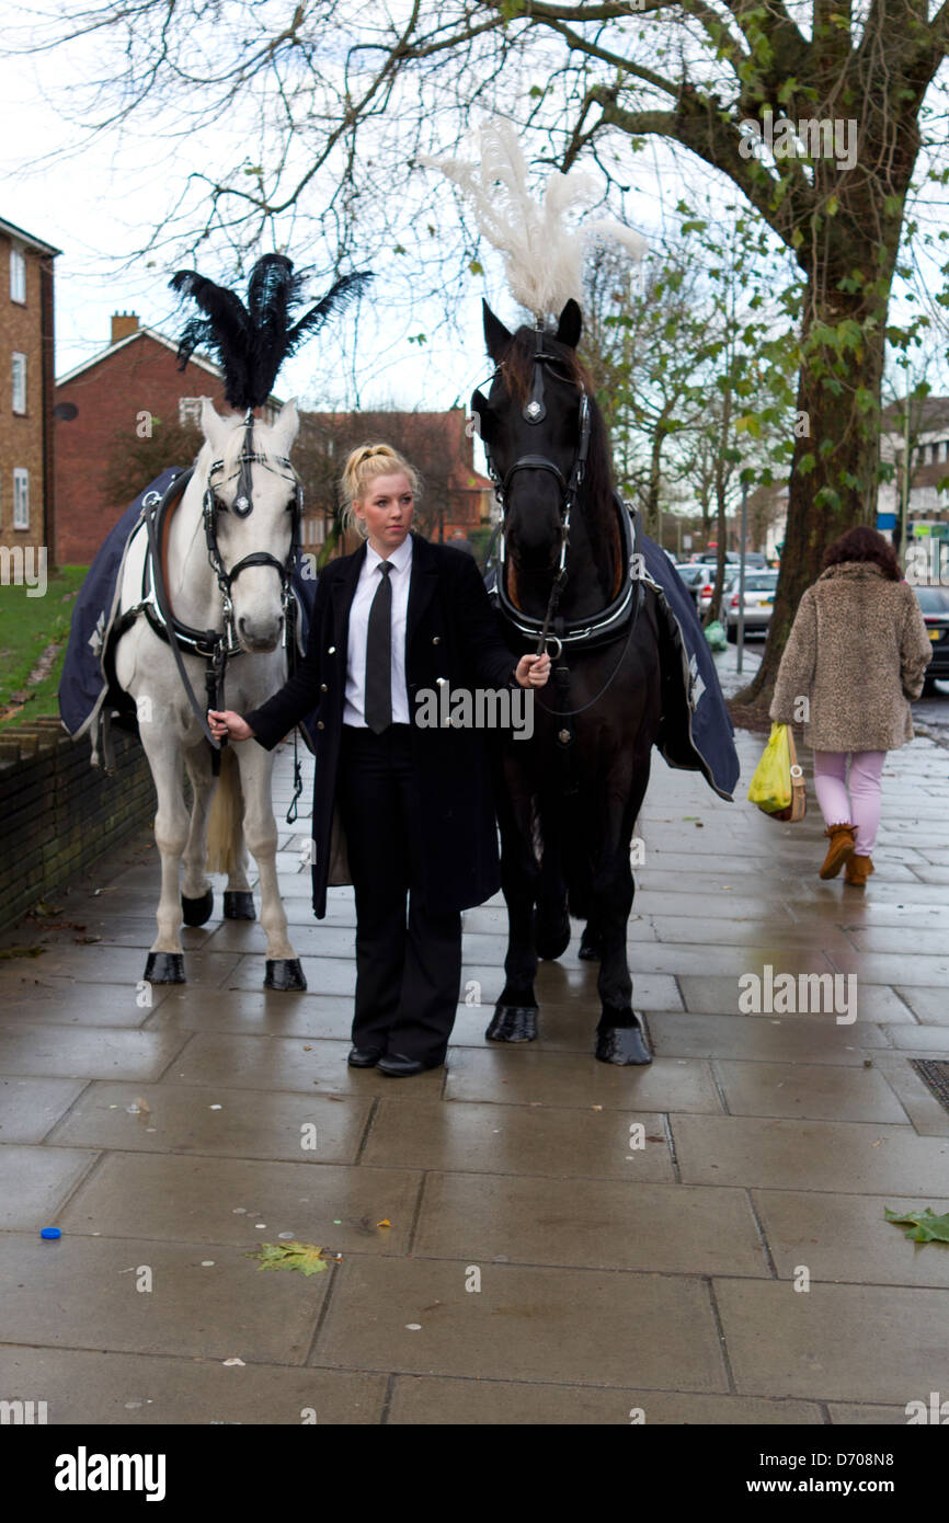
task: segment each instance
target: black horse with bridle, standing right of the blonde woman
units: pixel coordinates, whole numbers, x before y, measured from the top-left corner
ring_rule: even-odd
[[[495,373],[487,399],[475,391],[472,411],[504,513],[500,612],[519,649],[553,641],[551,681],[533,694],[533,737],[501,745],[509,946],[487,1037],[536,1037],[538,956],[561,956],[576,915],[586,920],[580,956],[600,959],[596,1055],[649,1063],[632,1010],[626,923],[632,832],[661,723],[661,637],[653,597],[632,565],[606,425],[576,353],[580,327],[576,302],[556,334],[513,335],[484,305]]]

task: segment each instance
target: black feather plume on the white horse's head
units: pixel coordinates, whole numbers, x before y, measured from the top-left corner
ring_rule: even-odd
[[[206,280],[195,270],[178,270],[169,285],[206,314],[192,317],[178,343],[178,370],[195,349],[210,350],[224,372],[227,402],[238,411],[262,407],[277,372],[305,338],[323,327],[331,312],[346,306],[372,280],[369,271],[343,276],[294,326],[292,315],[303,302],[303,274],[294,274],[285,254],[264,254],[250,273],[247,306],[241,299]]]

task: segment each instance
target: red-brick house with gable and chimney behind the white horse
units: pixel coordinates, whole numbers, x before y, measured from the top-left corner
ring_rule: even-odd
[[[148,426],[148,417],[197,423],[203,396],[210,396],[219,413],[232,411],[224,401],[221,369],[195,353],[178,370],[177,350],[175,340],[142,327],[134,312],[116,312],[108,347],[56,382],[59,564],[87,565],[128,507],[108,500],[102,480],[119,429],[134,434]],[[279,399],[271,396],[260,411],[270,420],[279,410]],[[190,460],[165,463],[187,466]]]

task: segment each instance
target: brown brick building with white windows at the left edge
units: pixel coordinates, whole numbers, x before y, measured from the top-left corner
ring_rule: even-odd
[[[53,260],[61,250],[0,219],[0,544],[52,560]]]

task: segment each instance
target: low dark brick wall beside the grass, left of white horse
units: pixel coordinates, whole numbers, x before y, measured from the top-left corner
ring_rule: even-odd
[[[58,719],[0,731],[0,926],[75,880],[155,816],[148,760],[113,731],[116,769],[90,766],[90,743]]]

